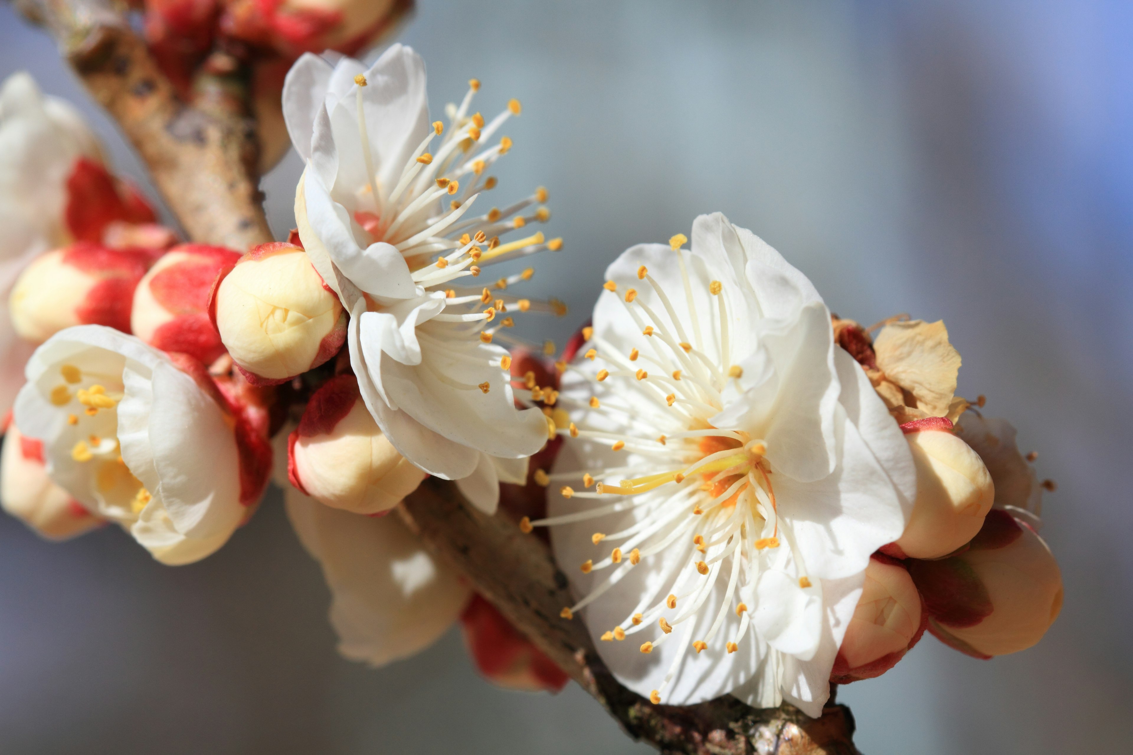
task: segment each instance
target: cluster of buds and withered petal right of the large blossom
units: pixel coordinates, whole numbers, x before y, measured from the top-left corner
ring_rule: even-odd
[[[1015,429],[954,395],[960,354],[943,323],[884,324],[876,340],[834,321],[901,422],[917,470],[904,533],[875,554],[830,680],[876,677],[925,629],[988,659],[1036,644],[1062,608],[1058,565],[1038,534],[1041,490]],[[937,413],[939,412],[939,413]]]

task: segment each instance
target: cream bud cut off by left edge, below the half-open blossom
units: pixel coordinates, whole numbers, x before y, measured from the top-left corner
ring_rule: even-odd
[[[48,477],[43,443],[24,437],[15,424],[0,453],[0,504],[49,540],[67,540],[102,524]]]

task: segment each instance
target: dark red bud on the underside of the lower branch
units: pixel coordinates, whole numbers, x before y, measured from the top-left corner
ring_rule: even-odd
[[[489,681],[527,692],[559,692],[570,677],[496,610],[474,594],[460,625],[476,668]]]

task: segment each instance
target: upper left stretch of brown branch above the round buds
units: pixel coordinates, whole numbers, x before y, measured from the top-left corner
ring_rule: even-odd
[[[241,251],[272,240],[254,168],[255,125],[242,108],[210,96],[215,86],[203,87],[205,96],[195,106],[182,102],[109,0],[14,5],[48,29],[91,95],[118,121],[189,238]],[[210,74],[210,81],[227,79],[238,89],[242,71],[229,62]]]

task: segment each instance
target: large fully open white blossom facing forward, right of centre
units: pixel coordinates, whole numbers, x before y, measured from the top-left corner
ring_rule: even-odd
[[[556,525],[582,595],[563,616],[585,609],[631,689],[817,717],[870,554],[904,529],[909,447],[806,276],[719,214],[684,241],[610,266],[550,517],[522,527]]]

